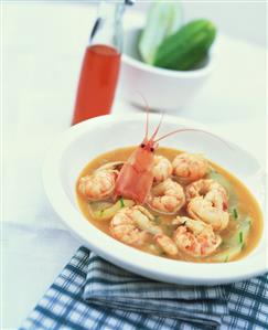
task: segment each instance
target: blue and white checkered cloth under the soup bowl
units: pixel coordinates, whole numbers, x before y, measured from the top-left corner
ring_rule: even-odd
[[[268,329],[268,275],[234,285],[149,280],[81,247],[20,330]]]

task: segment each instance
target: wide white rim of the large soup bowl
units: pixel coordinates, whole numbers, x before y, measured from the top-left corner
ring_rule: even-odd
[[[178,120],[179,117],[175,118]],[[262,253],[261,255],[249,255],[240,260],[225,264],[195,264],[171,260],[127,246],[85,221],[82,213],[72,205],[62,187],[60,180],[61,159],[69,143],[88,131],[88,129],[118,120],[121,120],[122,125],[127,120],[142,120],[143,123],[143,116],[138,114],[124,117],[108,115],[88,119],[63,132],[47,151],[42,171],[44,190],[53,209],[65,225],[100,257],[110,260],[119,267],[157,280],[187,285],[215,285],[246,279],[267,272],[267,265],[265,263],[262,265]],[[174,117],[165,116],[165,120],[174,123],[172,121]],[[185,126],[204,129],[203,125],[193,120],[180,118],[180,123]],[[208,131],[211,130],[208,129]],[[249,257],[251,262],[250,268],[248,267]],[[139,263],[136,260],[139,260]],[[227,275],[223,272],[226,270],[226,267],[228,267]]]

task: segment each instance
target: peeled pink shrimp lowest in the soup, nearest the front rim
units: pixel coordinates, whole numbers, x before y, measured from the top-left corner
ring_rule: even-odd
[[[180,251],[193,257],[205,257],[222,243],[221,236],[213,232],[211,225],[186,216],[178,219],[181,225],[175,230],[173,239]]]

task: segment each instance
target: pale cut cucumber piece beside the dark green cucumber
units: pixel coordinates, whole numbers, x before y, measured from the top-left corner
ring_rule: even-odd
[[[154,2],[149,8],[146,26],[141,33],[138,49],[142,60],[152,64],[160,43],[176,32],[182,24],[182,7],[175,3]]]

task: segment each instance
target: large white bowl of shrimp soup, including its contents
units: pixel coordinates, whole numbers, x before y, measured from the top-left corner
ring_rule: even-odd
[[[148,143],[144,115],[71,128],[44,166],[52,205],[86,246],[147,277],[213,285],[265,272],[258,162],[181,118],[159,136],[178,129]]]

